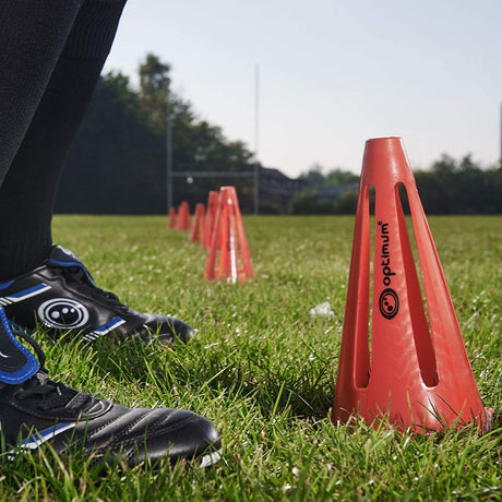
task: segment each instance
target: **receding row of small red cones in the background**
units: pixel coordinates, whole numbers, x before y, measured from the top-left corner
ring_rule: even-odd
[[[204,277],[229,283],[254,278],[248,239],[237,192],[234,187],[211,191],[207,211],[203,203],[195,205],[193,224],[188,202],[169,211],[169,228],[190,230],[190,242],[200,242],[208,249]]]

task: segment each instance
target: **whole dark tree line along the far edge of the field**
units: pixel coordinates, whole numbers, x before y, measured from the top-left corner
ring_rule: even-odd
[[[174,179],[174,205],[193,211],[210,190],[234,184],[243,212],[253,206],[253,154],[202,120],[192,104],[167,96],[170,67],[147,55],[139,88],[121,72],[103,75],[67,159],[56,203],[58,213],[165,214],[167,212],[167,106],[172,124],[175,171],[225,171],[228,178]],[[342,169],[323,175],[314,166],[297,179],[260,167],[260,211],[283,214],[349,214],[356,210],[358,176]],[[415,171],[429,214],[502,213],[502,170],[482,169],[470,155],[443,155]]]

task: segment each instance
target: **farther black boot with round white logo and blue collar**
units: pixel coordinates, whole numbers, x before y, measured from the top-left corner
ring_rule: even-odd
[[[145,342],[156,336],[164,343],[186,343],[193,335],[179,319],[136,312],[98,288],[82,262],[59,246],[33,271],[0,284],[0,306],[20,326],[44,324],[51,334],[71,331],[87,342],[109,333]]]

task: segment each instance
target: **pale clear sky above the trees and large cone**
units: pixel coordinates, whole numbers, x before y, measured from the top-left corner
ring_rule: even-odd
[[[501,21],[502,0],[129,0],[105,71],[138,84],[157,55],[201,119],[291,177],[359,174],[382,136],[414,169],[443,153],[492,167]]]

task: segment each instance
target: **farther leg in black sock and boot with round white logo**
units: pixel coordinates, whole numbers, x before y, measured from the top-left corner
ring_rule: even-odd
[[[72,330],[87,340],[113,333],[187,342],[182,321],[128,309],[82,263],[52,247],[51,218],[67,153],[110,50],[125,0],[84,0],[45,94],[0,188],[0,304],[16,323]],[[41,286],[44,285],[44,286]],[[38,289],[37,289],[38,288]]]

